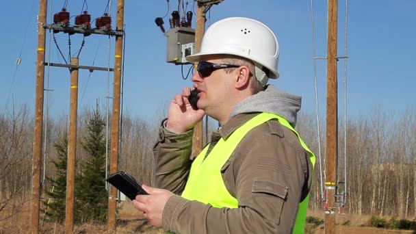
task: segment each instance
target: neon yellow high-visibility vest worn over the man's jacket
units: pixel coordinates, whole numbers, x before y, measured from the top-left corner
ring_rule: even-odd
[[[304,144],[299,134],[291,127],[285,118],[276,114],[261,113],[236,129],[228,139],[224,140],[221,138],[212,148],[209,157],[206,157],[209,144],[205,146],[203,151],[199,153],[198,157],[196,157],[192,163],[190,176],[185,185],[182,197],[187,198],[188,200],[198,200],[201,203],[210,204],[213,207],[237,208],[238,200],[231,196],[226,189],[224,180],[222,179],[221,168],[248,131],[274,118],[276,118],[281,125],[296,133],[300,144],[304,150],[309,153],[312,165],[315,165],[315,155],[313,155],[308,146]],[[308,202],[309,194],[307,198],[304,198],[299,204],[293,233],[304,232]]]

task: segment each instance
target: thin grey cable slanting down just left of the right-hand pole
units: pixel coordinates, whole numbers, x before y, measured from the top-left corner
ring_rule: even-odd
[[[316,105],[316,122],[317,122],[317,148],[318,157],[320,159],[320,185],[321,185],[321,199],[324,200],[324,187],[322,177],[322,157],[321,157],[321,133],[320,133],[320,109],[317,101],[317,76],[316,76],[316,47],[315,47],[315,21],[313,17],[313,0],[311,0],[311,18],[312,18],[312,45],[313,45],[313,78],[315,80],[315,105]]]

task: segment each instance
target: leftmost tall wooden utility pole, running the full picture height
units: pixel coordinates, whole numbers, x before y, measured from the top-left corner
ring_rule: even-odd
[[[43,91],[44,91],[44,46],[46,30],[43,24],[47,22],[47,0],[39,1],[38,14],[38,57],[36,59],[36,103],[34,151],[32,161],[32,206],[31,206],[31,233],[39,231],[39,204],[40,204],[40,161],[42,157],[42,125],[43,125]]]

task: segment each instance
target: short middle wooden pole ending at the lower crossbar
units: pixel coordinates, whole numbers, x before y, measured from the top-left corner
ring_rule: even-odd
[[[77,57],[70,59],[70,64],[78,66]],[[74,231],[74,194],[75,194],[75,158],[77,153],[77,116],[78,116],[78,68],[70,68],[70,107],[68,162],[66,164],[66,212],[65,231]]]

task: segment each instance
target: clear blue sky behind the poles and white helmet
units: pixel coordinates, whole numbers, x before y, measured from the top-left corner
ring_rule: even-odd
[[[186,3],[186,0],[184,0]],[[51,0],[49,7],[51,8]],[[99,3],[100,2],[100,3]],[[326,56],[327,1],[313,1],[315,21],[315,45],[317,56]],[[348,1],[348,86],[347,108],[350,116],[369,115],[378,107],[387,114],[401,114],[416,106],[416,1]],[[92,18],[101,16],[107,1],[87,1]],[[170,0],[170,12],[176,10],[177,0]],[[0,108],[11,109],[27,104],[34,113],[36,88],[36,15],[38,1],[22,4],[8,1],[7,7],[0,8],[0,18],[8,23],[3,29],[0,44]],[[339,56],[345,55],[345,1],[339,1]],[[52,12],[59,12],[64,1],[54,0]],[[81,12],[83,0],[69,0],[71,16]],[[189,1],[187,10],[192,8]],[[133,116],[153,121],[161,108],[175,93],[185,86],[192,86],[188,78],[181,77],[181,66],[165,62],[166,38],[156,27],[154,19],[168,11],[166,0],[125,1],[125,81],[124,109]],[[112,1],[113,27],[116,21],[116,1]],[[48,21],[49,21],[48,16]],[[268,25],[278,37],[281,55],[278,66],[281,77],[271,81],[282,90],[302,96],[302,110],[315,112],[315,88],[313,80],[313,40],[310,1],[235,1],[225,0],[214,5],[207,15],[207,27],[221,18],[246,16]],[[74,18],[71,19],[73,23]],[[168,29],[168,16],[164,19]],[[196,25],[195,21],[193,25]],[[56,34],[57,42],[68,60],[68,35]],[[78,51],[81,36],[71,36],[71,52]],[[86,38],[79,63],[84,66],[113,66],[114,38],[92,35]],[[47,48],[49,33],[47,34]],[[64,63],[58,55],[53,40],[47,49],[46,61]],[[21,64],[16,68],[16,59]],[[326,106],[326,61],[317,60],[318,101],[320,111]],[[187,70],[188,66],[184,68]],[[339,112],[343,112],[343,68],[339,68]],[[64,68],[45,69],[45,88],[48,86],[49,109],[53,116],[69,112],[70,75]],[[113,74],[109,75],[110,96],[112,96]],[[106,72],[87,70],[79,73],[79,108],[95,105],[96,99],[105,105],[108,75]],[[45,95],[46,103],[46,95]],[[46,107],[45,107],[46,108]]]

